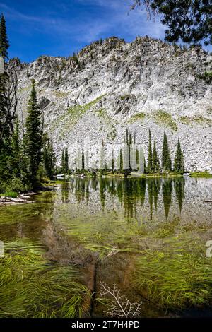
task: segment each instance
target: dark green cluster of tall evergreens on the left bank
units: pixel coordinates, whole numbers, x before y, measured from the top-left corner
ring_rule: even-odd
[[[6,36],[4,16],[0,21],[0,56],[8,59],[9,43]],[[25,124],[25,135],[20,140],[20,129],[17,107],[18,78],[16,71],[0,75],[0,183],[1,191],[26,191],[37,185],[37,175],[44,172],[42,160],[41,112],[37,106],[35,81],[28,103],[28,116]],[[52,175],[54,152],[51,143],[46,143],[45,170]],[[51,165],[49,165],[51,164]]]

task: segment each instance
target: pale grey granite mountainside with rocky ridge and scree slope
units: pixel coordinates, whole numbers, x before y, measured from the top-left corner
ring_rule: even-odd
[[[11,60],[18,69],[18,112],[25,117],[32,78],[37,83],[45,129],[58,161],[69,148],[90,141],[90,161],[107,158],[122,143],[126,127],[147,154],[148,129],[174,153],[179,137],[187,170],[212,171],[212,88],[201,78],[211,57],[200,47],[180,49],[149,37],[126,43],[116,37],[94,42],[74,57],[39,57],[31,64]]]

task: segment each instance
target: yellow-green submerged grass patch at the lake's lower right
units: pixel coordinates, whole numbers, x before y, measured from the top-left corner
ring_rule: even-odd
[[[181,248],[180,243],[178,246],[143,251],[136,260],[136,287],[163,308],[183,309],[210,304],[211,261],[206,259],[204,252],[201,256],[189,252],[189,248]]]

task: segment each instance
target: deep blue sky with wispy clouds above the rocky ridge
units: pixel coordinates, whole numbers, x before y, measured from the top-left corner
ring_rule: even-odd
[[[133,0],[0,0],[11,44],[9,57],[33,61],[40,55],[69,56],[90,42],[110,36],[127,42],[137,35],[164,37],[158,19],[129,12]]]

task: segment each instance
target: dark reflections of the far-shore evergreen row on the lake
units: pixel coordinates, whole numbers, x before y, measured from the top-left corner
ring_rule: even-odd
[[[118,198],[118,203],[124,210],[124,216],[129,220],[136,218],[137,210],[143,205],[149,207],[149,219],[153,219],[153,211],[157,213],[158,198],[163,198],[165,219],[167,220],[172,203],[173,188],[175,201],[179,211],[182,211],[184,201],[184,179],[81,179],[64,182],[61,190],[61,201],[69,201],[69,191],[74,192],[77,203],[92,203],[92,192],[99,195],[102,211],[108,197]]]

